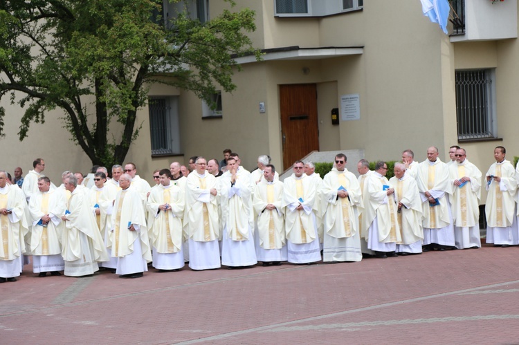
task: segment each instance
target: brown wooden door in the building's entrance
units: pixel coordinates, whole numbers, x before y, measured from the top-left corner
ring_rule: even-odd
[[[316,84],[280,85],[283,168],[319,150]]]

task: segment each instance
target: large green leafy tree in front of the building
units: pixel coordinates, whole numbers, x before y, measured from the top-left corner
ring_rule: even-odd
[[[255,30],[253,10],[224,10],[201,23],[183,6],[165,23],[152,15],[161,13],[161,5],[162,0],[1,1],[0,98],[10,97],[24,109],[19,139],[28,136],[30,124],[43,123],[47,111],[62,109],[64,128],[93,165],[121,164],[138,136],[136,114],[150,84],[183,88],[211,102],[217,84],[226,92],[236,88],[233,55],[260,58],[246,35]],[[1,136],[4,120],[0,109]],[[111,133],[112,121],[122,133]]]

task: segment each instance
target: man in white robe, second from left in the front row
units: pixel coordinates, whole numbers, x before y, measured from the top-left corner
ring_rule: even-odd
[[[30,252],[33,254],[33,272],[38,277],[61,275],[65,263],[62,257],[62,216],[65,214],[65,194],[51,189],[51,180],[43,176],[38,179],[39,192],[29,201],[30,218],[33,226],[30,230]]]

